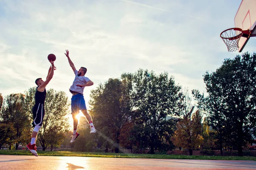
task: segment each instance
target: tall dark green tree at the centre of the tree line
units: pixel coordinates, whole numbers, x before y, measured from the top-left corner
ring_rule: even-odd
[[[136,101],[135,128],[138,130],[141,146],[154,150],[169,150],[170,137],[175,131],[175,119],[166,120],[168,115],[179,114],[180,86],[175,85],[168,73],[154,74],[154,71],[139,69],[134,74],[124,73],[122,79],[130,79],[131,99]]]

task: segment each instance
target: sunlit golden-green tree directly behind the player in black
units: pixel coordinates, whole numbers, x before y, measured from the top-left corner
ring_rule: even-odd
[[[32,119],[32,107],[35,104],[36,88],[29,88],[26,94],[26,108],[29,111],[30,119]],[[45,115],[41,129],[38,132],[38,140],[46,150],[49,145],[59,145],[64,139],[64,133],[70,127],[67,115],[70,102],[68,102],[67,94],[64,91],[55,91],[49,89],[45,100]],[[56,135],[58,137],[56,137]],[[55,138],[55,139],[52,139]]]

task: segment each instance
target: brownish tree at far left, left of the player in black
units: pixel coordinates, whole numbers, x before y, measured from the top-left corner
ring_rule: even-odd
[[[1,112],[3,122],[13,123],[16,136],[14,142],[16,143],[15,149],[18,149],[19,143],[23,143],[25,139],[22,138],[22,134],[25,127],[29,124],[28,117],[24,110],[25,108],[25,96],[23,94],[10,94],[6,96]]]

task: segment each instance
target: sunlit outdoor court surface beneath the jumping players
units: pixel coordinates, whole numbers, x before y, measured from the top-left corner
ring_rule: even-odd
[[[256,170],[256,161],[0,155],[0,170]]]

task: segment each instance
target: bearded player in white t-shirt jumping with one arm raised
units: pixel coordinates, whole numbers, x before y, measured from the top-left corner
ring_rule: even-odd
[[[76,119],[76,115],[79,113],[80,110],[82,111],[82,113],[84,114],[84,116],[90,124],[90,133],[96,133],[96,129],[93,126],[93,120],[90,114],[87,112],[83,95],[84,87],[93,85],[93,82],[88,77],[84,77],[84,75],[87,72],[87,68],[81,67],[79,71],[77,71],[74,63],[71,61],[69,57],[68,50],[66,50],[65,55],[67,56],[70,67],[73,69],[76,76],[73,81],[73,84],[70,86],[70,92],[73,94],[71,98],[71,114],[74,122],[73,135],[70,143],[73,143],[79,136],[79,133],[76,132],[78,126],[78,119]]]

